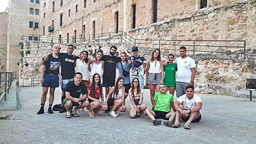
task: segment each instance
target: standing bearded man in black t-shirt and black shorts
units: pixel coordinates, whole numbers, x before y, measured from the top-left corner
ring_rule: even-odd
[[[115,56],[116,50],[116,46],[110,47],[110,55],[104,55],[101,58],[104,61],[103,86],[106,90],[105,96],[109,93],[109,87],[115,86],[116,64],[121,62],[121,58]]]

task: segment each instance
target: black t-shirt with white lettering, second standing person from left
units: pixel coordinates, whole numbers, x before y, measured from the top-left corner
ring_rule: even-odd
[[[72,79],[75,74],[75,61],[79,58],[78,56],[70,56],[67,53],[60,53],[61,57],[61,76],[62,79]]]

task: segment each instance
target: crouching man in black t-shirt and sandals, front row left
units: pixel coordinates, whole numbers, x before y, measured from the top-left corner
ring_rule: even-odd
[[[63,104],[67,110],[66,118],[71,118],[70,114],[70,107],[76,106],[73,110],[74,117],[79,117],[77,115],[78,109],[83,109],[86,106],[89,105],[87,98],[87,88],[85,84],[81,83],[82,81],[82,74],[80,72],[76,72],[74,75],[74,81],[70,81],[67,83],[67,86],[65,88],[65,97],[63,99]],[[80,98],[80,95],[82,94],[82,97]]]

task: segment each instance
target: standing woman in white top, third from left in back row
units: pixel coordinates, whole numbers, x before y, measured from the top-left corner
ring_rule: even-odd
[[[91,71],[88,61],[88,51],[83,50],[81,52],[80,58],[75,62],[75,71],[80,72],[83,75],[82,83],[84,83],[87,87],[90,84],[89,71]]]

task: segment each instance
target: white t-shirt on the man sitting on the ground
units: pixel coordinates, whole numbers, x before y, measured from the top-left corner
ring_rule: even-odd
[[[184,94],[180,96],[177,101],[179,101],[185,109],[192,109],[196,105],[196,103],[202,102],[201,98],[195,94],[192,99],[188,99],[187,95]]]

